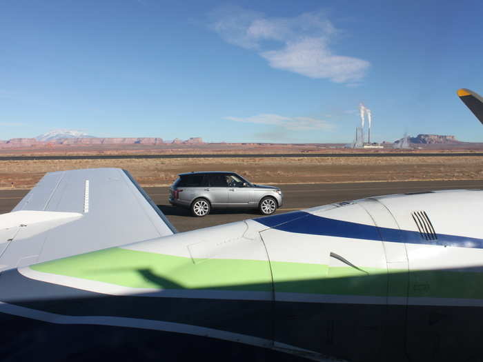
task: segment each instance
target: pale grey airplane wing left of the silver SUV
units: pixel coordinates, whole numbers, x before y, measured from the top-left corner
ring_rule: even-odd
[[[175,232],[125,170],[50,172],[0,215],[0,270]]]

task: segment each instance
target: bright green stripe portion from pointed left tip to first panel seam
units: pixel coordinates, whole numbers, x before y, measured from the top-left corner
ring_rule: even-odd
[[[202,259],[112,248],[31,265],[32,270],[130,288],[271,291],[268,261]]]

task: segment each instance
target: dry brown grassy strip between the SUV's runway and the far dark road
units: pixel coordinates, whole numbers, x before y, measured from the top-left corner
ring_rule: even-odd
[[[226,170],[254,183],[483,180],[483,157],[313,157],[0,161],[0,188],[32,188],[46,172],[124,168],[142,186],[169,185],[180,172]]]

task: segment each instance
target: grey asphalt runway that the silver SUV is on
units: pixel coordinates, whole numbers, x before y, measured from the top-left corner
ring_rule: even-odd
[[[364,197],[420,192],[428,190],[483,188],[483,181],[408,181],[368,183],[317,183],[277,185],[284,192],[284,205],[277,213],[312,208],[337,201],[350,201]],[[195,230],[208,226],[259,217],[257,211],[213,210],[206,217],[191,217],[188,210],[175,208],[168,203],[168,188],[145,188],[153,201],[178,231]],[[0,190],[0,213],[10,212],[28,190]]]

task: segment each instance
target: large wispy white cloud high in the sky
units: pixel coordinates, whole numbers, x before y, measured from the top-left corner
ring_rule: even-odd
[[[335,83],[360,81],[370,63],[333,54],[329,48],[337,30],[323,12],[293,18],[268,18],[239,6],[212,12],[213,29],[228,43],[255,50],[272,68]]]

